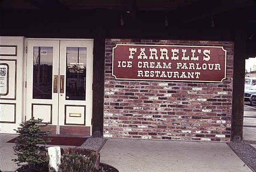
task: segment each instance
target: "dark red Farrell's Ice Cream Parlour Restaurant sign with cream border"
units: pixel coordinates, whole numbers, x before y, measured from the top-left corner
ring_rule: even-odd
[[[127,45],[113,48],[116,79],[222,82],[226,78],[223,47]]]

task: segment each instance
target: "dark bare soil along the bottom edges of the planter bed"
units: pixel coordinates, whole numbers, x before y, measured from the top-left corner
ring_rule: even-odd
[[[112,167],[111,165],[104,163],[100,163],[100,168],[103,168],[104,172],[119,172],[115,167]],[[22,167],[18,168],[15,172],[48,172],[48,167],[44,170],[41,167],[40,170],[29,170],[28,165],[23,165]]]

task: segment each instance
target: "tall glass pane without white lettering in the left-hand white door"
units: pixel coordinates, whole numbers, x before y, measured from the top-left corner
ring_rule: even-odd
[[[33,99],[52,99],[52,47],[34,47]]]

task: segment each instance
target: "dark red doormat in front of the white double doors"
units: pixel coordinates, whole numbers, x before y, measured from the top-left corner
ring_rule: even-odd
[[[88,138],[84,137],[69,137],[69,136],[45,136],[46,139],[50,139],[51,142],[47,145],[68,145],[68,146],[81,146]],[[7,143],[15,143],[16,138],[9,140]]]

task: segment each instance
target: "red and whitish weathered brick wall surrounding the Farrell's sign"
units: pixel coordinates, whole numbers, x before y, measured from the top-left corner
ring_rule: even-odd
[[[223,46],[227,78],[222,83],[115,80],[117,43]],[[104,83],[104,137],[230,141],[232,42],[106,39]]]

